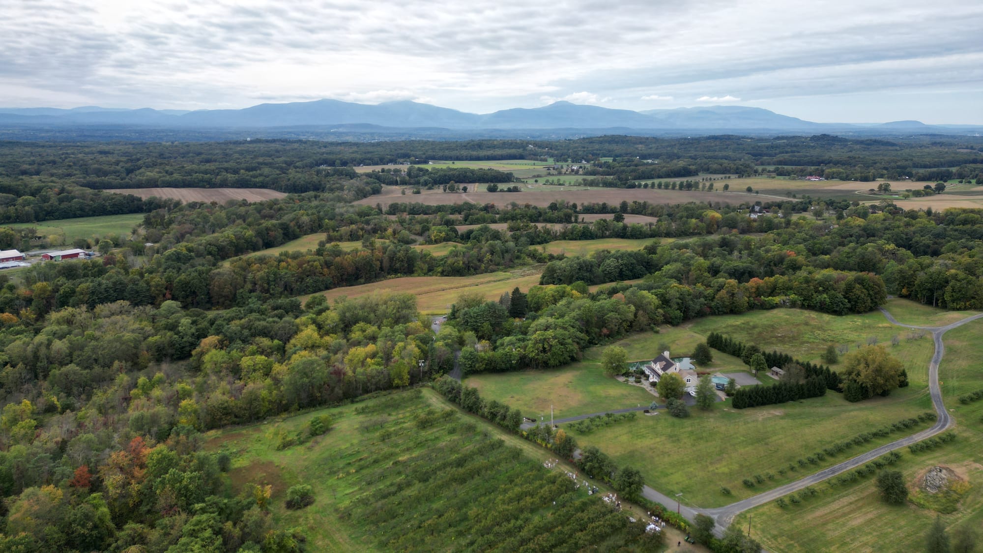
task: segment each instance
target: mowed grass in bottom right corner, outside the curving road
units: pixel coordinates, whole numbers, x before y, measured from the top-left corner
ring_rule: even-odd
[[[983,401],[962,404],[958,396],[983,389],[983,322],[974,321],[946,333],[946,356],[940,365],[940,380],[954,419],[956,439],[935,450],[911,454],[899,451],[897,468],[913,488],[918,473],[932,466],[953,468],[968,480],[969,491],[959,509],[943,515],[950,531],[959,527],[983,526]],[[936,513],[907,503],[890,506],[881,501],[873,477],[859,483],[830,488],[815,486],[821,494],[801,505],[781,509],[769,504],[740,515],[734,523],[755,523],[755,537],[770,551],[871,551],[921,550],[924,536]]]

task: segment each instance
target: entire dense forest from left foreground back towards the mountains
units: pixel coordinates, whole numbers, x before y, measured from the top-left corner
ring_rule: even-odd
[[[612,165],[598,165],[615,173],[616,164],[644,168],[630,160],[636,155],[665,159],[676,152],[699,164],[731,143],[728,162],[751,170],[766,154],[769,160],[815,154],[811,139],[758,145],[756,154],[750,153],[756,139],[721,137],[703,145],[618,139],[607,146],[599,140],[549,148],[568,148],[573,158],[615,151],[626,159],[614,155]],[[979,160],[978,152],[957,152],[954,144],[828,142],[822,144],[830,160],[855,147],[850,166],[870,171],[891,170],[886,163],[897,152],[906,152],[909,162],[931,158],[926,168],[940,160],[950,167]],[[52,206],[84,211],[76,200],[145,214],[138,232],[116,237],[104,256],[36,264],[16,278],[0,275],[0,550],[303,550],[301,533],[276,527],[261,493],[226,491],[229,455],[204,453],[202,432],[428,385],[453,368],[457,355],[466,372],[553,367],[592,345],[660,325],[787,307],[863,313],[888,294],[949,309],[983,308],[980,210],[799,199],[764,203],[775,215],[752,219],[749,205],[695,203],[557,201],[538,208],[410,201],[386,213],[353,205],[383,183],[346,164],[451,158],[466,148],[262,141],[0,146],[4,194],[14,205],[35,202],[34,215],[21,218],[71,216]],[[538,148],[546,146],[491,141],[475,152],[547,152]],[[633,150],[638,153],[630,155]],[[414,169],[412,178],[434,172]],[[219,177],[230,180],[216,184]],[[302,193],[279,200],[226,205],[91,190],[158,186],[170,178],[168,186],[310,186],[298,185]],[[610,216],[585,222],[585,214]],[[656,218],[625,222],[632,214]],[[487,226],[496,222],[507,228]],[[461,224],[479,226],[459,231]],[[7,242],[0,246],[29,246],[32,234],[0,228],[0,241]],[[323,239],[310,252],[256,254],[312,234]],[[596,238],[673,240],[589,256],[538,247]],[[452,247],[445,255],[415,247],[436,243]],[[438,333],[412,294],[329,304],[316,293],[393,276],[516,267],[542,270],[540,284],[494,301],[461,294]],[[590,291],[599,283],[610,284]],[[305,294],[313,295],[302,301]],[[478,407],[488,411],[487,404]],[[275,437],[284,444],[301,438]]]

